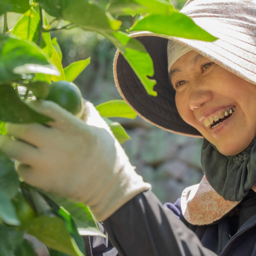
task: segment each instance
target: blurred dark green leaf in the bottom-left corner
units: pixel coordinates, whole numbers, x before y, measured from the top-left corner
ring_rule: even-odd
[[[0,255],[20,256],[14,254],[14,251],[23,243],[24,233],[13,227],[0,225]]]

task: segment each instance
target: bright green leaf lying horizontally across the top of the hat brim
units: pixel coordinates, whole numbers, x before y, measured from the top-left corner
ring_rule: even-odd
[[[180,12],[172,12],[169,15],[152,14],[146,16],[138,20],[130,30],[151,31],[157,34],[205,41],[217,39]]]

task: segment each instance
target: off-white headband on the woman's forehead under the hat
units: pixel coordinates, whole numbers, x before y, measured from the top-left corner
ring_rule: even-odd
[[[173,66],[176,60],[178,60],[182,55],[190,51],[192,51],[191,48],[188,48],[180,44],[179,42],[168,40],[168,44],[167,44],[168,72],[170,71],[170,68]]]

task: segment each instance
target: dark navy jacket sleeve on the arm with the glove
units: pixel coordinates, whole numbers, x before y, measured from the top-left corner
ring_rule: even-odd
[[[148,190],[104,221],[120,256],[216,256],[181,220],[179,201],[165,207]]]

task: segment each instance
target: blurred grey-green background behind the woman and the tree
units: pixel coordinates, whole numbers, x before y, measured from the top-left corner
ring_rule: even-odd
[[[97,2],[97,0],[94,0]],[[172,0],[176,9],[181,9],[186,0]],[[8,14],[9,28],[12,28],[21,15]],[[118,18],[125,27],[133,24],[133,17]],[[3,31],[3,17],[0,20]],[[60,30],[51,33],[57,38],[65,68],[71,62],[91,57],[90,65],[74,83],[80,88],[83,97],[94,105],[121,99],[113,79],[113,59],[116,48],[103,36],[81,29]],[[131,163],[144,181],[152,184],[153,192],[162,203],[174,203],[182,190],[200,182],[203,173],[200,164],[199,138],[176,135],[155,127],[142,118],[111,118],[118,121],[132,138],[122,144]],[[35,240],[34,238],[30,238]],[[47,256],[47,249],[34,241],[38,255]]]

